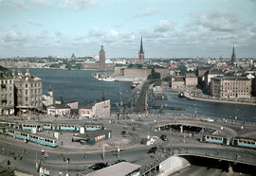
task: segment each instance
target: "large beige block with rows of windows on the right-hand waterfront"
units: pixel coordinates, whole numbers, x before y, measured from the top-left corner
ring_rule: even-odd
[[[210,81],[212,97],[250,98],[251,79],[247,77],[215,77]]]

